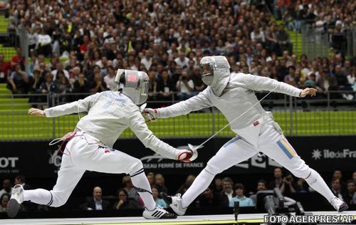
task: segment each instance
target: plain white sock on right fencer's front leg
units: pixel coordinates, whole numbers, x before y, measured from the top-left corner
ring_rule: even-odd
[[[196,199],[199,194],[205,191],[209,184],[213,181],[215,175],[207,172],[203,169],[197,178],[194,179],[192,186],[187,189],[182,196],[182,207],[187,208],[189,204],[191,204],[194,199]]]

